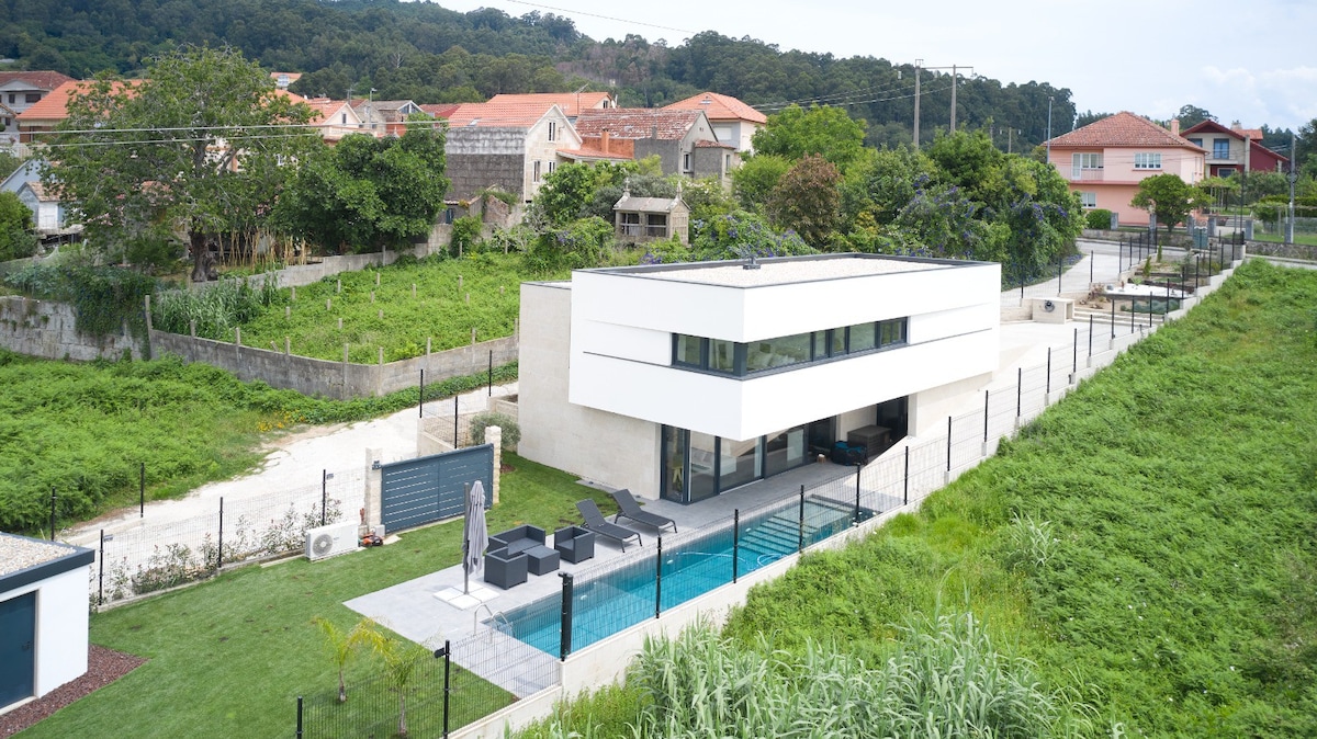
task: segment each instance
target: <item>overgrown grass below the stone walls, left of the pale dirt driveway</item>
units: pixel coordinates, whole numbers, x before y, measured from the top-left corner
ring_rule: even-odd
[[[495,370],[495,381],[516,367]],[[427,385],[427,398],[486,376]],[[416,391],[352,401],[241,383],[176,358],[76,364],[0,350],[0,529],[49,535],[57,526],[136,505],[141,464],[149,500],[176,497],[252,469],[259,442],[300,423],[360,421],[416,404]]]

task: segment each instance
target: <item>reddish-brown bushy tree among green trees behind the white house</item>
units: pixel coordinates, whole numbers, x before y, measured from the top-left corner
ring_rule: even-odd
[[[768,199],[773,224],[794,229],[805,243],[820,249],[836,229],[842,205],[842,172],[818,154],[809,154],[782,175]]]

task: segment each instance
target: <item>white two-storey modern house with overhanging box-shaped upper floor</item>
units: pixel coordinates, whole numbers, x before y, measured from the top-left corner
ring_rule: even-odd
[[[934,427],[997,364],[1001,267],[871,254],[522,285],[519,454],[695,502],[859,431]]]

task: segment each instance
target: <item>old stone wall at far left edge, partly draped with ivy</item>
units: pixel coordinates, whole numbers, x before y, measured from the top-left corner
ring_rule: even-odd
[[[119,334],[97,339],[78,333],[74,308],[53,300],[21,296],[0,297],[0,346],[42,359],[120,359],[124,352],[141,359],[137,339],[125,326]]]

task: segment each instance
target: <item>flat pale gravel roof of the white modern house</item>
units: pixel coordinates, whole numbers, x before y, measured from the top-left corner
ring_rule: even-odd
[[[886,254],[815,254],[807,256],[774,256],[757,259],[757,270],[747,270],[747,259],[727,262],[689,262],[681,264],[648,264],[640,267],[605,267],[585,270],[666,280],[674,283],[698,283],[732,288],[755,288],[813,283],[820,280],[842,280],[849,277],[869,277],[876,275],[896,275],[902,272],[927,272],[988,264],[960,259],[922,259],[913,256],[893,256]]]

